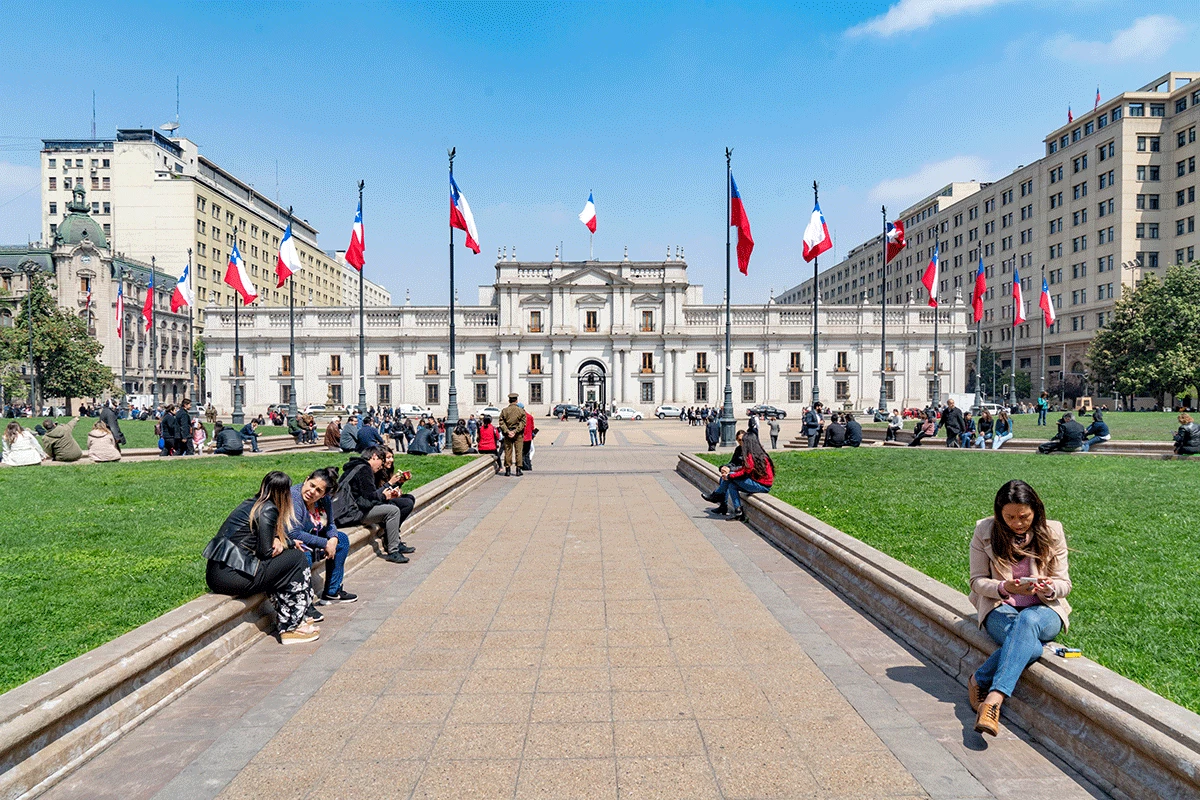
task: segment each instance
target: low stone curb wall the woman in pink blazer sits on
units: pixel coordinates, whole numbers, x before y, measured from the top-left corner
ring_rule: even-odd
[[[718,479],[689,453],[677,471],[706,491]],[[769,494],[743,505],[758,533],[964,686],[996,649],[962,593]],[[1088,658],[1043,657],[1003,714],[1114,796],[1200,796],[1200,715]]]

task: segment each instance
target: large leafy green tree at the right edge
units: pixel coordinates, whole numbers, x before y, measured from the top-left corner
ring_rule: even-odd
[[[1094,380],[1127,397],[1164,399],[1200,384],[1200,264],[1142,278],[1117,301],[1087,357]]]

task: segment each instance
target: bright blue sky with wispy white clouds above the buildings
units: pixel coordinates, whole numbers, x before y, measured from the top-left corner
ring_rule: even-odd
[[[482,253],[457,251],[461,300],[522,260],[685,248],[724,287],[724,148],[750,215],[764,302],[808,275],[814,180],[836,252],[949,180],[1028,163],[1067,106],[1090,109],[1200,68],[1194,6],[1115,0],[811,4],[4,4],[0,242],[38,229],[38,140],[157,126],[278,194],[344,248],[366,181],[367,275],[403,302],[448,296],[446,148]],[[238,98],[233,104],[230,98]],[[461,243],[461,235],[458,239]],[[832,263],[832,261],[830,261]]]

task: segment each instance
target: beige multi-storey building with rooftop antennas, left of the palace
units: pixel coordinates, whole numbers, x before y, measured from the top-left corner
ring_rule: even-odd
[[[43,241],[54,241],[72,188],[80,184],[114,253],[145,263],[154,258],[160,270],[178,277],[192,251],[198,330],[205,306],[233,303],[233,289],[222,278],[235,240],[259,302],[288,303],[287,287],[275,287],[287,207],[202,156],[190,139],[142,128],[119,130],[114,139],[44,139]],[[320,249],[317,229],[299,216],[292,233],[304,263],[296,305],[340,305],[342,266]]]

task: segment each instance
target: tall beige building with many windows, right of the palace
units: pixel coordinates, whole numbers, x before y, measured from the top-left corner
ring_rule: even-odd
[[[1086,354],[1116,300],[1142,275],[1196,258],[1198,125],[1200,72],[1171,72],[1098,103],[1050,132],[1033,163],[992,182],[950,184],[895,215],[907,249],[882,269],[882,234],[858,245],[817,276],[820,299],[878,305],[886,295],[889,305],[925,306],[920,276],[936,241],[943,302],[970,302],[983,258],[983,344],[1006,368],[1015,336],[1016,369],[1032,377],[1034,392],[1043,374],[1048,386],[1066,377],[1081,393],[1103,391],[1087,385]],[[1015,327],[1014,270],[1026,300],[1026,321]],[[1044,363],[1043,272],[1058,313],[1045,331]],[[812,291],[809,278],[778,301],[811,303]]]

